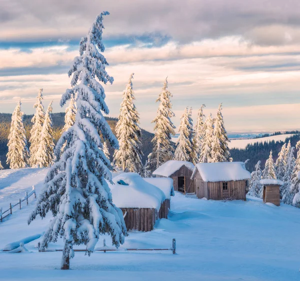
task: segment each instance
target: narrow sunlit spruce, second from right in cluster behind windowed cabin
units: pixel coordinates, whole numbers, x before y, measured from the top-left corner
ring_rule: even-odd
[[[204,122],[204,138],[201,147],[200,162],[202,163],[211,162],[212,141],[213,141],[213,120],[210,113]]]

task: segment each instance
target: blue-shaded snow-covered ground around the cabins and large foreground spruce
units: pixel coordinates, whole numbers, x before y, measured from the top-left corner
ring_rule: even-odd
[[[45,172],[0,171],[0,206],[17,201],[32,184],[38,193]],[[50,215],[27,225],[34,203],[16,207],[0,223],[0,248],[46,228]],[[71,270],[63,271],[58,269],[61,252],[38,252],[35,240],[25,245],[27,253],[0,252],[0,280],[299,280],[299,217],[298,208],[262,204],[253,197],[223,202],[176,192],[169,219],[160,219],[151,232],[130,231],[122,246],[169,247],[174,237],[176,254],[119,251],[88,257],[75,252]],[[111,245],[108,237],[106,244]],[[50,245],[61,247],[61,240]]]

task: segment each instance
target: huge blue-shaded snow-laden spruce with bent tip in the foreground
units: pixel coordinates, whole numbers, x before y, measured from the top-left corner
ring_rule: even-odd
[[[110,234],[115,246],[123,243],[126,235],[122,211],[112,203],[105,181],[111,180],[110,164],[101,150],[101,138],[97,131],[112,147],[118,148],[102,113],[108,114],[109,110],[104,101],[104,89],[99,83],[113,81],[105,70],[108,63],[99,52],[104,51],[102,18],[106,14],[108,12],[100,13],[87,36],[81,39],[80,56],[74,58],[68,72],[69,76],[72,75],[72,88],[62,95],[60,105],[63,106],[75,94],[75,123],[57,142],[55,154],[58,161],[49,169],[36,208],[28,220],[30,223],[37,214],[43,218],[51,210],[54,218],[40,248],[43,250],[58,236],[63,237],[61,269],[69,268],[69,259],[74,256],[74,244],[85,244],[86,252],[90,254],[100,234]],[[66,149],[59,158],[65,141]]]

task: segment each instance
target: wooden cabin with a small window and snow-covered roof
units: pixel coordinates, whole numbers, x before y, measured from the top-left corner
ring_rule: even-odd
[[[198,198],[245,200],[250,177],[243,162],[216,162],[196,164],[191,179]]]

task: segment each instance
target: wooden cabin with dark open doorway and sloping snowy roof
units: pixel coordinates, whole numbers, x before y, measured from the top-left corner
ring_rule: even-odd
[[[181,193],[194,193],[194,181],[190,179],[194,165],[187,161],[169,160],[153,171],[158,177],[169,177],[173,179],[175,191]]]

